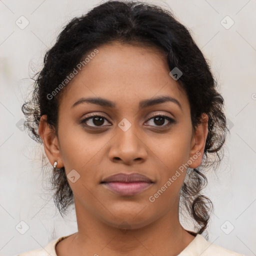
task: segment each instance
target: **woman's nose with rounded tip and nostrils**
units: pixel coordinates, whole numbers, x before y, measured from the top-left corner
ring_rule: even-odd
[[[133,129],[133,125],[126,131],[119,127],[116,130],[116,135],[111,139],[109,159],[127,165],[144,162],[147,148],[140,133]]]

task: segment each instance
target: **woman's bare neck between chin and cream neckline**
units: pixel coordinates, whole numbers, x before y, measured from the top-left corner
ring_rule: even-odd
[[[194,238],[181,226],[178,210],[169,210],[145,224],[139,214],[129,224],[99,221],[75,201],[78,232],[69,238],[66,254],[73,255],[177,255]],[[77,214],[78,213],[78,214]],[[120,229],[123,227],[123,229]],[[126,228],[126,229],[125,229]],[[59,253],[58,255],[63,255]]]

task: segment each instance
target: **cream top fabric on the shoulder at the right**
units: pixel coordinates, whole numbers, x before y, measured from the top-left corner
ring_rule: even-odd
[[[235,251],[207,241],[202,235],[197,234],[188,246],[178,256],[245,256]]]

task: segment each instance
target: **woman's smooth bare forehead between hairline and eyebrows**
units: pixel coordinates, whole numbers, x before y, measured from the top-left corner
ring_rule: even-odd
[[[65,106],[71,107],[82,96],[107,97],[119,101],[117,106],[138,106],[136,101],[157,95],[175,97],[182,105],[188,103],[183,89],[169,75],[164,53],[157,48],[114,42],[97,50],[67,85],[61,99]]]

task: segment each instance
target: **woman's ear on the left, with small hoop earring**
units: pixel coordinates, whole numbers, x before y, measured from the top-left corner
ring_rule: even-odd
[[[38,133],[42,139],[44,151],[51,165],[57,161],[56,168],[63,167],[63,161],[60,154],[58,139],[55,130],[48,124],[47,115],[44,114],[40,118]]]

